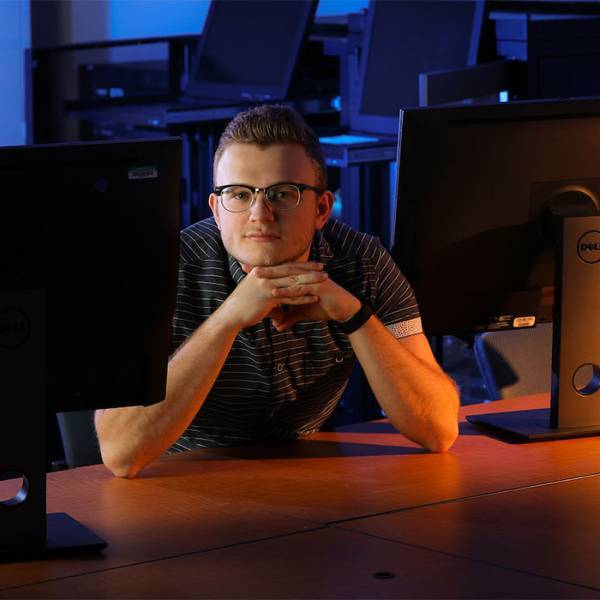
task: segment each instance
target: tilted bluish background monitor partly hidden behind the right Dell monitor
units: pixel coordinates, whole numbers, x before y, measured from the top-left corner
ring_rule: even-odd
[[[483,19],[482,0],[371,0],[351,129],[395,136],[419,73],[477,63]]]

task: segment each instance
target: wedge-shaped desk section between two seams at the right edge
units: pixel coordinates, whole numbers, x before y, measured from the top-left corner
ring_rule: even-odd
[[[341,527],[600,590],[599,475]]]

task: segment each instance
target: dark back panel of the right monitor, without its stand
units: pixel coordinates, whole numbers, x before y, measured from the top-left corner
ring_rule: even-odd
[[[393,252],[426,333],[552,318],[549,209],[598,210],[598,155],[600,100],[401,111]]]

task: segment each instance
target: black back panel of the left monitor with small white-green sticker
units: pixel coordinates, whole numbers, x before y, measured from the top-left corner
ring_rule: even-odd
[[[0,148],[0,319],[10,335],[20,291],[42,291],[50,411],[164,398],[180,144]]]

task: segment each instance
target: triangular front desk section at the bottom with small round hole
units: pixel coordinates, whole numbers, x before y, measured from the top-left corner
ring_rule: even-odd
[[[325,528],[28,585],[0,597],[600,598],[600,592]]]

